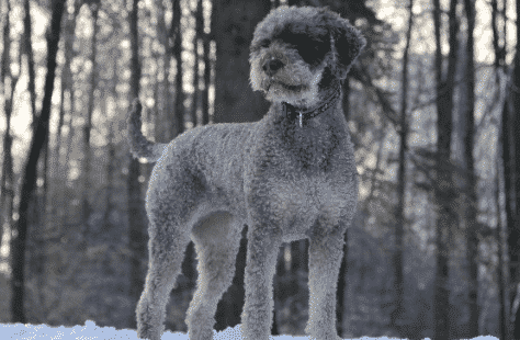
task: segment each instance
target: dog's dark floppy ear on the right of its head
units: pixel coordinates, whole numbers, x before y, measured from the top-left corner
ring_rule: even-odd
[[[336,75],[339,79],[347,78],[350,67],[360,55],[366,41],[361,32],[352,26],[347,19],[337,18],[330,32],[331,46],[336,52]]]

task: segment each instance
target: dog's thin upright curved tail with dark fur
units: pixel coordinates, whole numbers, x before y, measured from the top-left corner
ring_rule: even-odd
[[[128,143],[131,145],[131,151],[135,158],[144,158],[149,162],[157,161],[168,144],[154,143],[146,139],[140,132],[143,122],[140,120],[140,112],[143,105],[139,100],[134,100],[132,111],[128,113],[126,123],[128,126]]]

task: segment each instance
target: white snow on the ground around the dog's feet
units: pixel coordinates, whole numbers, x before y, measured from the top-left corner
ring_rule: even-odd
[[[240,325],[234,328],[226,328],[225,330],[217,332],[213,331],[213,340],[239,340],[241,339]],[[2,324],[0,325],[0,336],[3,339],[13,339],[13,340],[137,340],[137,335],[135,330],[131,329],[115,329],[113,327],[99,327],[95,322],[87,320],[84,326],[74,326],[74,327],[50,327],[47,325],[30,325],[30,324]],[[292,336],[276,336],[272,338],[273,340],[308,340],[307,337],[292,337]],[[358,338],[362,340],[380,339],[380,340],[389,340],[396,338]],[[429,340],[429,338],[427,338]],[[491,340],[497,339],[495,337],[477,337],[473,340]],[[181,332],[170,332],[166,331],[162,335],[161,340],[189,340],[185,333]],[[498,340],[498,339],[497,339]]]

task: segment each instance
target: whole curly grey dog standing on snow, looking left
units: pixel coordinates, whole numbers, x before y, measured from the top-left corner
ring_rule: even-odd
[[[308,238],[305,331],[312,339],[339,339],[336,286],[358,201],[341,82],[364,45],[337,13],[280,7],[256,27],[250,49],[252,89],[272,102],[261,121],[201,126],[154,144],[140,132],[142,105],[135,102],[128,118],[133,154],[157,161],[146,199],[149,269],[137,305],[139,338],[160,339],[190,239],[199,280],[185,320],[189,336],[213,338],[217,303],[231,283],[247,224],[244,338],[269,338],[280,246]]]

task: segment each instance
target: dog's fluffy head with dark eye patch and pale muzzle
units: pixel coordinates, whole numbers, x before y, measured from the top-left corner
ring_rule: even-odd
[[[348,20],[327,9],[279,7],[255,30],[251,87],[272,102],[313,106],[332,80],[347,77],[365,43]]]

